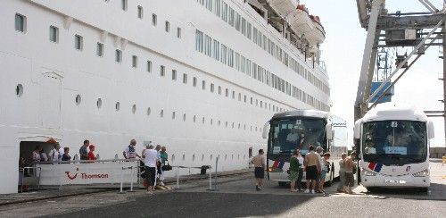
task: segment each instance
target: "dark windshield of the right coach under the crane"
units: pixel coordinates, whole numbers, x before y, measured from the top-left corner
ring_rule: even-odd
[[[427,158],[425,122],[381,121],[363,125],[364,161],[380,164],[414,164]]]

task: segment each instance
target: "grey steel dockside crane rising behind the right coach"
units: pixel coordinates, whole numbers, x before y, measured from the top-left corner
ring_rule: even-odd
[[[415,0],[413,0],[415,1]],[[446,43],[446,11],[437,9],[429,0],[418,0],[428,13],[388,13],[385,0],[357,0],[359,23],[368,34],[362,57],[358,92],[354,106],[354,120],[364,116],[380,99],[388,95],[395,83],[409,71],[429,46],[441,46],[444,56]],[[446,1],[445,1],[446,3]],[[440,42],[439,42],[440,41]],[[407,55],[401,55],[396,68],[388,74],[382,84],[371,93],[379,48],[409,47]],[[446,60],[443,58],[443,75],[446,75]],[[446,83],[443,81],[444,97]],[[372,101],[375,100],[375,102]],[[444,102],[444,101],[443,101]],[[373,104],[372,104],[373,103]],[[446,104],[444,104],[446,111]],[[445,120],[446,125],[446,120]],[[445,131],[446,132],[446,131]]]

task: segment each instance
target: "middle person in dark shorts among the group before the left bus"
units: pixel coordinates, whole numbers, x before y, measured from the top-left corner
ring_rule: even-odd
[[[307,172],[307,189],[305,189],[304,193],[310,193],[311,183],[311,194],[314,194],[316,179],[320,172],[319,155],[314,152],[314,146],[310,145],[309,153],[305,155],[303,163],[305,165],[305,172]]]

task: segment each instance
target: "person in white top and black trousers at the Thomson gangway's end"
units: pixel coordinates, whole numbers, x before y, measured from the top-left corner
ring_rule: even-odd
[[[155,190],[156,164],[159,161],[158,152],[153,146],[143,150],[143,158],[145,158],[145,180],[147,180],[147,193],[153,194]]]

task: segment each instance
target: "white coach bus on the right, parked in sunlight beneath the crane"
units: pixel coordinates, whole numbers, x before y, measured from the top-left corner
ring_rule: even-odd
[[[355,123],[354,138],[364,187],[428,189],[434,125],[425,113],[409,106],[377,105]]]

